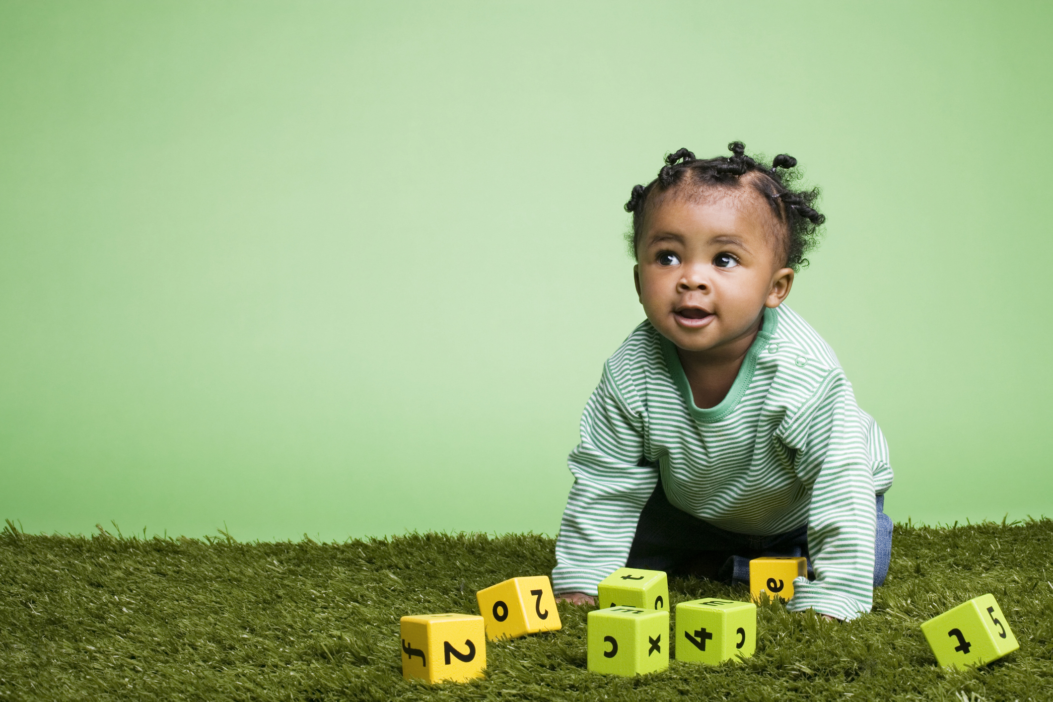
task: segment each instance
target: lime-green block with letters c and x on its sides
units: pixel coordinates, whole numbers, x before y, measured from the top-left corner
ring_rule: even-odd
[[[619,676],[669,667],[669,613],[608,607],[589,613],[589,669]]]

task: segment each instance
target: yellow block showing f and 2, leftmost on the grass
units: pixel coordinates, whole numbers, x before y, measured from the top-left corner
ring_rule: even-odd
[[[428,682],[464,682],[486,668],[482,617],[419,615],[403,617],[402,677]]]

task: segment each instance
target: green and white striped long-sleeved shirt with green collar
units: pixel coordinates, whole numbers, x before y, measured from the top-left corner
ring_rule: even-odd
[[[557,593],[595,594],[625,564],[660,473],[674,506],[720,528],[771,536],[808,524],[815,581],[794,582],[791,610],[870,611],[889,448],[834,352],[787,305],[764,310],[735,383],[709,409],[695,406],[672,342],[637,326],[603,364],[569,464]]]

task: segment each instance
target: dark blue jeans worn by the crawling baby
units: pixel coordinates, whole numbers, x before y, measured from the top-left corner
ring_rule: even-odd
[[[883,512],[885,496],[878,495],[876,499],[875,587],[885,582],[892,558],[892,520]],[[670,504],[659,480],[640,513],[625,565],[676,576],[749,583],[750,559],[761,556],[808,558],[808,525],[768,537],[728,531]],[[815,577],[811,562],[808,577]]]

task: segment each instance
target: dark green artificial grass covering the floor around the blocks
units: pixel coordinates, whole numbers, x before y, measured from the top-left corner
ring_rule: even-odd
[[[672,661],[635,679],[585,669],[585,615],[488,644],[486,677],[401,677],[399,617],[478,614],[475,590],[549,573],[536,535],[412,534],[322,544],[0,535],[0,700],[1046,700],[1053,697],[1053,521],[896,526],[874,611],[846,624],[758,610],[743,664]],[[993,593],[1020,649],[987,667],[936,667],[918,628]],[[673,603],[747,599],[670,582]]]

